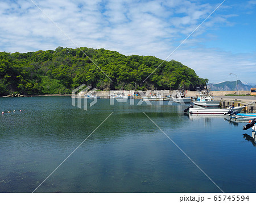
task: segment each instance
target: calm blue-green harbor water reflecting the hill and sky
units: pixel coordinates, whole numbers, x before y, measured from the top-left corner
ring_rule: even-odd
[[[0,98],[16,110],[0,116],[0,192],[33,192],[112,112],[36,192],[256,192],[245,123],[167,103],[101,99],[85,111],[71,97]]]

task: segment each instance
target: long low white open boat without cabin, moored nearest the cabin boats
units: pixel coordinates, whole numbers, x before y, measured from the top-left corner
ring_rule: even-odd
[[[216,114],[216,115],[224,115],[227,114],[230,110],[238,111],[240,113],[245,106],[237,106],[233,108],[226,108],[226,109],[208,109],[208,108],[189,108],[190,114]],[[228,114],[227,114],[228,115]]]

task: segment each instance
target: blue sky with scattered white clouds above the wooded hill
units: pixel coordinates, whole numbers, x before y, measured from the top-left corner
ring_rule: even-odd
[[[166,59],[224,0],[34,0],[78,47]],[[0,1],[0,51],[77,46],[31,0]],[[168,60],[209,82],[256,83],[256,0],[226,0]]]

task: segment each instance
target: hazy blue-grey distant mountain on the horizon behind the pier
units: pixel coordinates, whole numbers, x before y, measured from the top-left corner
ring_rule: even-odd
[[[218,84],[207,84],[207,87],[212,91],[236,91],[238,90],[250,90],[256,88],[256,85],[245,85],[240,80],[238,81],[226,81]]]

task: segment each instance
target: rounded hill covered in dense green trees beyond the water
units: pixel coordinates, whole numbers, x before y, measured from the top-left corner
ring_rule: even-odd
[[[86,53],[109,78],[82,53]],[[28,53],[0,52],[0,96],[20,94],[70,94],[81,84],[109,89],[195,89],[205,80],[175,61],[154,56],[125,56],[93,48],[58,47]],[[161,63],[163,64],[156,69]],[[154,70],[156,71],[143,82]]]

